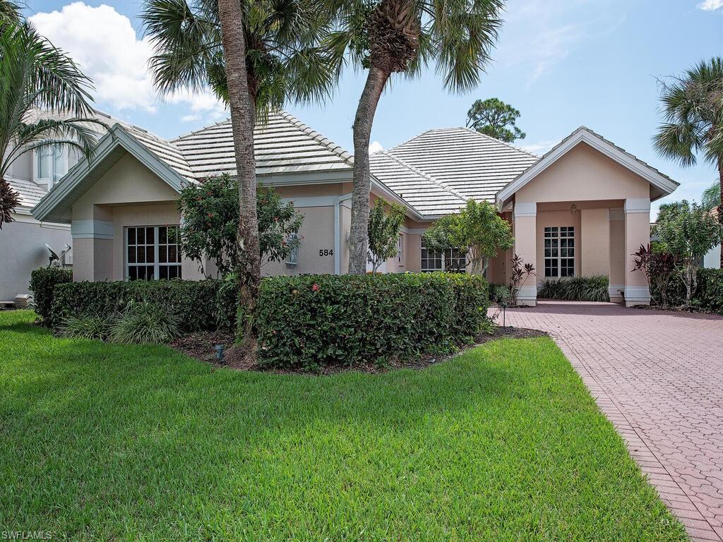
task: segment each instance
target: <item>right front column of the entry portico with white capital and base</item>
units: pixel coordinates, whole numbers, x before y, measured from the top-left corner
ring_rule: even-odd
[[[650,243],[650,198],[625,199],[625,305],[649,305],[650,288],[641,271],[633,271],[636,252]]]

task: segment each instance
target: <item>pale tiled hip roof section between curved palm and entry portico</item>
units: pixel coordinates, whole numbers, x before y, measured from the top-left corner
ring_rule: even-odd
[[[391,155],[424,173],[463,201],[488,202],[495,202],[498,190],[539,160],[529,152],[469,128],[427,130],[401,145],[372,155],[375,176],[383,155]],[[399,173],[401,181],[403,173]]]

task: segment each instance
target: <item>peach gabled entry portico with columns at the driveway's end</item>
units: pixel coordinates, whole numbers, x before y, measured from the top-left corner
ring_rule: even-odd
[[[650,242],[651,201],[676,188],[607,139],[577,129],[497,193],[513,225],[510,252],[536,269],[519,300],[534,306],[544,278],[606,275],[611,301],[649,304],[633,252]]]

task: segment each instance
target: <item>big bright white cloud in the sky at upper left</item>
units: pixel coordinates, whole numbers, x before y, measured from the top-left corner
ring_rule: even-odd
[[[61,11],[35,14],[30,21],[93,79],[98,106],[151,113],[158,109],[162,100],[148,69],[153,47],[148,38],[138,37],[128,17],[105,4],[90,7],[76,1]],[[211,93],[178,93],[166,100],[189,106],[199,117],[204,113],[215,119],[223,111]]]

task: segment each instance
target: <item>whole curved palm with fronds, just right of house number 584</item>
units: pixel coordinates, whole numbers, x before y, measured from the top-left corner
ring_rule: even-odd
[[[354,117],[354,190],[349,272],[367,262],[369,139],[377,105],[393,73],[415,76],[434,61],[448,90],[477,85],[502,24],[503,0],[326,0],[338,14],[330,36],[337,61],[368,69]]]

